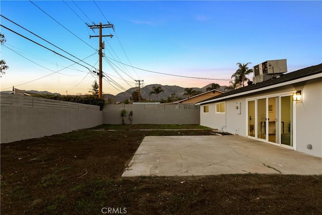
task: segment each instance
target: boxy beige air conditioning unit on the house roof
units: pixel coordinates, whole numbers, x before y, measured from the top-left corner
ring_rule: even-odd
[[[265,82],[273,78],[279,78],[280,74],[287,72],[286,59],[267,60],[253,67],[253,83]]]

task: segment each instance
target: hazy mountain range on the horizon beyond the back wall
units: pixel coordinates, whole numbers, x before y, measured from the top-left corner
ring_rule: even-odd
[[[161,99],[167,99],[168,97],[171,96],[171,94],[175,93],[176,97],[180,97],[180,98],[187,98],[188,96],[184,96],[183,94],[185,93],[185,88],[183,87],[179,87],[179,86],[169,86],[169,85],[159,85],[159,84],[152,84],[152,85],[147,85],[144,86],[143,88],[141,88],[141,96],[143,99],[151,99],[155,101],[155,95],[152,94],[151,97],[149,96],[150,92],[152,91],[153,87],[161,87],[164,92],[158,94],[158,101],[160,101]],[[203,88],[194,88],[194,90],[196,91],[200,91],[200,92],[206,92],[206,89],[208,87],[211,87],[211,84],[204,86]],[[220,86],[220,88],[218,90],[223,91],[223,92],[227,92],[224,90],[226,86]],[[111,95],[111,94],[104,94],[104,98],[107,100],[108,98],[110,98],[111,100],[115,101],[115,102],[123,102],[125,99],[130,100],[131,98],[131,93],[133,93],[134,91],[136,91],[137,88],[130,88],[127,90],[127,92],[122,92],[117,94],[116,96]]]

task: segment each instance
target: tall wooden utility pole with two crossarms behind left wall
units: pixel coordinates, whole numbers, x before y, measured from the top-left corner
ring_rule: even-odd
[[[90,39],[92,37],[99,37],[100,41],[99,41],[99,98],[102,99],[102,79],[103,79],[103,73],[102,73],[102,57],[103,57],[103,52],[102,49],[105,48],[105,44],[102,43],[102,37],[113,37],[112,34],[110,35],[102,35],[102,28],[113,28],[114,29],[114,25],[113,24],[105,24],[102,25],[102,23],[100,23],[99,25],[88,25],[88,27],[90,27],[91,29],[96,29],[98,28],[100,30],[100,35],[99,36],[91,36],[90,35]]]

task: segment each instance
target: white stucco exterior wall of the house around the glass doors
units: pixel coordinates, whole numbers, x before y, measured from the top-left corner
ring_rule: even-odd
[[[223,127],[223,131],[247,136],[247,99],[274,97],[298,90],[301,90],[302,100],[293,102],[294,150],[322,157],[322,78],[226,100],[224,114],[215,113],[216,102],[202,104],[200,105],[200,125],[219,130]],[[240,114],[235,108],[237,104],[240,104]],[[203,113],[204,105],[209,105],[209,113]],[[312,149],[307,149],[307,144],[310,144]]]

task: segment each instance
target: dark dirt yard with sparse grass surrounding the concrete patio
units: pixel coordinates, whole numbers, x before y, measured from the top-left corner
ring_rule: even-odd
[[[102,125],[2,144],[1,214],[322,214],[320,175],[121,178],[144,136],[212,135],[132,130],[149,128],[201,127]]]

